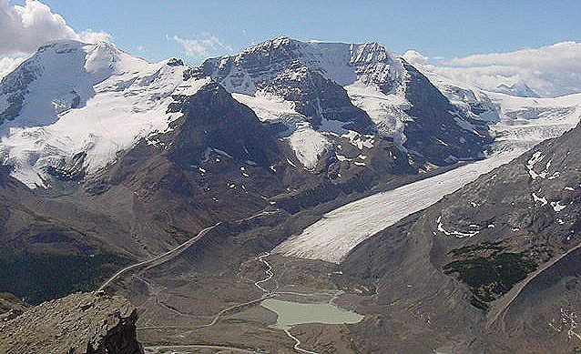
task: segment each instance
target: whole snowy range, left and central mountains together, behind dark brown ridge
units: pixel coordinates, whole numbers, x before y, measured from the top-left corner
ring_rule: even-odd
[[[513,109],[511,96],[422,73],[377,43],[280,37],[190,68],[57,41],[0,82],[0,157],[28,187],[81,181],[141,139],[155,144],[182,115],[169,109],[176,97],[211,81],[289,147],[280,151],[290,167],[335,184],[484,157]]]

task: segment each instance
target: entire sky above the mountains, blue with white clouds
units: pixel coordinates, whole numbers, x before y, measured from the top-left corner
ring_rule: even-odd
[[[0,0],[0,78],[56,39],[197,65],[288,35],[377,41],[455,82],[560,96],[581,92],[579,14],[581,0]]]

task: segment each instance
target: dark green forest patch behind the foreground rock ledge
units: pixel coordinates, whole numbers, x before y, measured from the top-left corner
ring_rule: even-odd
[[[75,291],[95,290],[102,281],[128,264],[113,254],[50,255],[25,253],[0,256],[0,291],[39,304]]]

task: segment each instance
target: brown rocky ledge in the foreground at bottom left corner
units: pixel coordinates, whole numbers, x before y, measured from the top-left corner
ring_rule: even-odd
[[[0,353],[142,354],[137,319],[125,298],[71,294],[0,320]]]

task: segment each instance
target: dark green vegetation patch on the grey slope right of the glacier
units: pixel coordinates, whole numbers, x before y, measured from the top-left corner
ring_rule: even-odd
[[[443,272],[455,275],[470,288],[474,307],[486,309],[488,302],[508,292],[537,268],[524,252],[505,249],[489,242],[456,248],[449,252],[456,259],[446,264]]]

